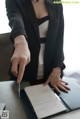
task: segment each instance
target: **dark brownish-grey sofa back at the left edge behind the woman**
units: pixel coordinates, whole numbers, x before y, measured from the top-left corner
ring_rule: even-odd
[[[10,33],[0,34],[0,81],[9,80],[8,70],[13,51]]]

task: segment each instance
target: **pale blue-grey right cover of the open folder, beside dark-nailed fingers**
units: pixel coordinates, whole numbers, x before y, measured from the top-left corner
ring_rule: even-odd
[[[80,108],[80,80],[64,77],[64,81],[69,83],[70,91],[61,92],[59,97],[70,111]]]

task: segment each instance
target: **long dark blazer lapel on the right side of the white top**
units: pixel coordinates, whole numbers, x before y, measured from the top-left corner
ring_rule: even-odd
[[[55,4],[46,0],[47,9],[49,12],[49,26],[47,31],[47,39],[45,45],[45,52],[44,52],[44,65],[47,66],[49,62],[49,58],[52,57],[52,53],[54,52],[53,49],[55,48],[56,43],[56,35],[57,35],[57,20],[56,20],[56,10]],[[47,58],[49,57],[49,58]],[[47,60],[46,60],[47,58]]]

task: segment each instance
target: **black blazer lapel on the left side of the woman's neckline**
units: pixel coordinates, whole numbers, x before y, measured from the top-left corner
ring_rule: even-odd
[[[19,0],[18,0],[18,2],[19,2]],[[31,3],[31,0],[21,0],[21,3],[23,5],[24,10],[26,10],[25,15],[26,15],[26,13],[28,14],[28,16],[25,16],[25,17],[26,17],[26,19],[28,19],[28,17],[30,18],[30,21],[31,21],[30,24],[33,26],[33,30],[36,35],[36,40],[40,45],[38,22],[36,19],[36,14],[34,12],[34,8]]]

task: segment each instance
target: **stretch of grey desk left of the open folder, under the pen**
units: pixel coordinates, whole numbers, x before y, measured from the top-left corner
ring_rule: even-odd
[[[17,84],[14,81],[0,82],[0,102],[6,104],[9,119],[27,119],[23,104],[18,97]]]

